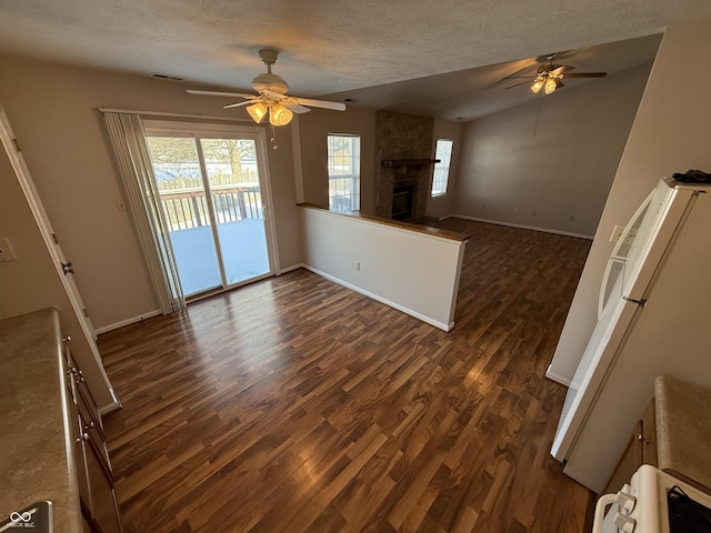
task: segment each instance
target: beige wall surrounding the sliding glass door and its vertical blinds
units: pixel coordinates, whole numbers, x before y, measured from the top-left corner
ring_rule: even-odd
[[[107,142],[99,107],[244,117],[223,99],[186,93],[188,82],[64,67],[0,56],[0,102],[96,328],[158,309]],[[269,134],[267,135],[270,137]],[[300,263],[290,128],[269,150],[280,266]]]

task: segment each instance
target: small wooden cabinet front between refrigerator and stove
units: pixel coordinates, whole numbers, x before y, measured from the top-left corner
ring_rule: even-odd
[[[632,439],[618,463],[610,481],[604,487],[605,494],[618,492],[632,479],[632,474],[642,464],[657,466],[657,422],[654,399],[649,403],[643,416],[637,421]]]

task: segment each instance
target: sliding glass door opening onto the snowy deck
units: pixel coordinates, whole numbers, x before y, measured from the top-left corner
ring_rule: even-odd
[[[146,133],[186,296],[270,275],[261,130],[147,121]]]

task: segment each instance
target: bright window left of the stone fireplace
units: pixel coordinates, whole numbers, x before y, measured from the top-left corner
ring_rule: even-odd
[[[360,137],[329,134],[329,209],[360,209]]]

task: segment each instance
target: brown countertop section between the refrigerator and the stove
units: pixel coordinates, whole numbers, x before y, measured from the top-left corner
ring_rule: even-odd
[[[711,493],[711,389],[659,375],[654,401],[659,469]]]

